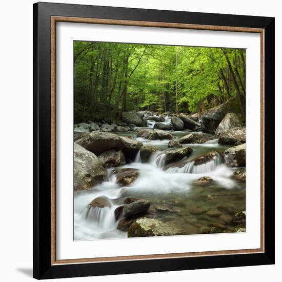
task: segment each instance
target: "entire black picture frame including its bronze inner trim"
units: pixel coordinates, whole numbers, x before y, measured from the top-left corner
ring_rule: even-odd
[[[259,249],[56,259],[56,23],[259,33]],[[33,6],[33,277],[37,279],[274,264],[274,18],[86,5]]]

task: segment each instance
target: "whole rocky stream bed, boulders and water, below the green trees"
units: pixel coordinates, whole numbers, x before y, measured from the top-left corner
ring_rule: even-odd
[[[246,128],[228,103],[74,125],[74,239],[246,232]]]

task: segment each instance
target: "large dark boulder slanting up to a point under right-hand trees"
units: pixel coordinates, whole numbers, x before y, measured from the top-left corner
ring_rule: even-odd
[[[229,99],[226,103],[217,107],[205,110],[199,116],[199,123],[203,132],[214,133],[221,120],[229,112],[231,103],[234,103],[235,97]]]

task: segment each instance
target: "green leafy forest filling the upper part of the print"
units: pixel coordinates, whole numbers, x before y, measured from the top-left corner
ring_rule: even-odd
[[[194,113],[236,96],[245,118],[243,49],[74,42],[74,122],[122,112]]]

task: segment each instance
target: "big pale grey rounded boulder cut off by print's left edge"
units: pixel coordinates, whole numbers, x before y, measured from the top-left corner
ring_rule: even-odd
[[[107,172],[97,156],[74,143],[73,152],[73,188],[87,190],[101,183]]]

